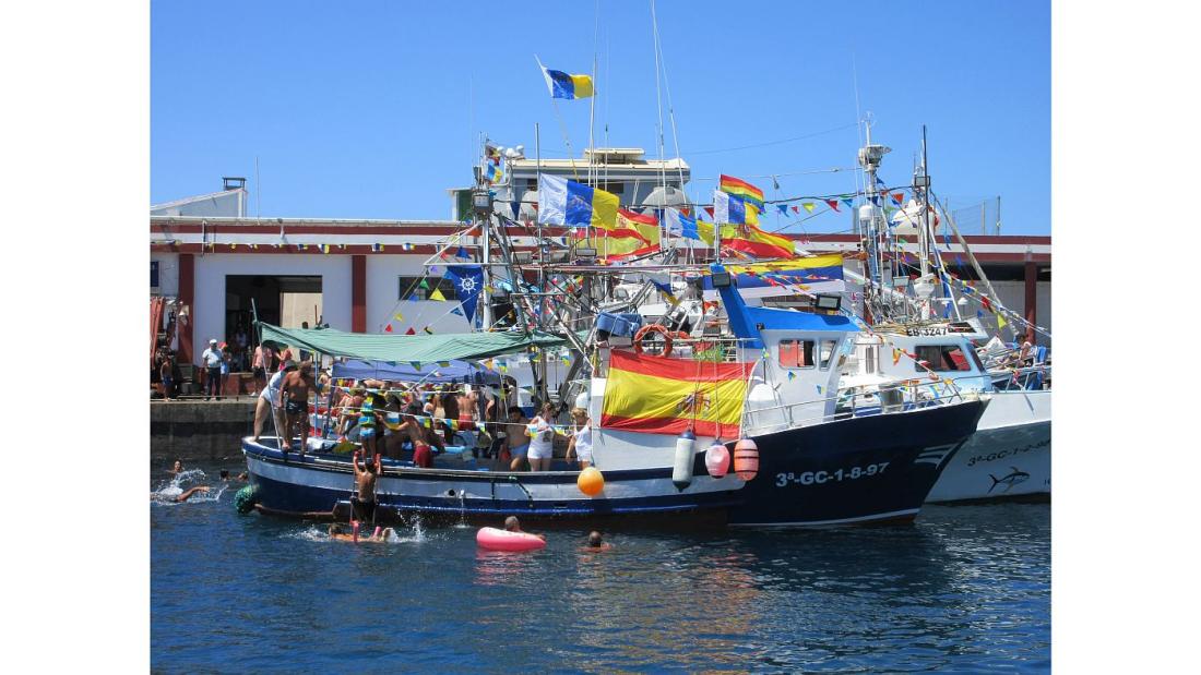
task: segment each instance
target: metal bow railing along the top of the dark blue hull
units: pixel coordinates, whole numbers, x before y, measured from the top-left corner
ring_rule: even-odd
[[[848,420],[864,415],[894,415],[908,412],[910,410],[932,408],[937,405],[950,405],[954,403],[966,403],[978,400],[980,393],[975,391],[960,391],[944,382],[904,380],[890,386],[885,384],[885,392],[901,394],[885,394],[878,397],[878,403],[862,405],[861,397],[867,393],[878,393],[877,385],[855,385],[841,387],[835,396],[814,398],[802,402],[781,403],[763,408],[748,408],[743,415],[743,428],[752,434],[764,434],[793,429],[797,427],[809,427],[825,422]],[[830,402],[846,403],[837,406],[832,414],[821,412],[819,415],[808,414],[815,404],[826,408]]]

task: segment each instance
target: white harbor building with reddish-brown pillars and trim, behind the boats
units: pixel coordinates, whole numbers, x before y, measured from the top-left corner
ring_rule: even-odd
[[[613,161],[611,171],[604,179],[593,168],[600,181],[597,185],[620,187],[623,203],[628,199],[646,204],[656,194],[668,204],[670,199],[683,199],[682,193],[677,197],[670,192],[689,177],[683,162],[671,161],[671,170],[667,171],[668,164],[643,159],[638,150],[604,152]],[[567,159],[549,162],[556,163],[544,161],[543,171],[572,175]],[[507,164],[513,171],[510,185],[524,191],[522,201],[533,201],[537,185],[528,181],[536,180],[536,162],[509,159]],[[668,181],[667,193],[662,189],[664,171],[669,179],[674,171],[676,179],[675,185]],[[657,175],[653,180],[652,174]],[[679,182],[681,176],[683,183]],[[328,324],[342,331],[396,335],[410,330],[435,335],[470,330],[467,320],[454,312],[459,306],[454,285],[441,278],[446,265],[479,259],[478,236],[464,236],[447,246],[449,237],[470,227],[461,219],[255,218],[245,213],[243,179],[223,179],[222,187],[220,192],[150,209],[150,295],[169,301],[163,323],[178,319],[172,346],[183,363],[196,363],[210,338],[227,340],[239,330],[250,332],[255,311],[259,319],[285,327]],[[452,191],[456,217],[464,215],[460,197],[460,191]],[[498,192],[496,199],[506,197],[510,194]],[[543,234],[562,237],[569,233],[545,227]],[[844,253],[846,269],[861,271],[860,261],[850,257],[859,246],[854,235],[788,236],[812,253]],[[964,239],[998,300],[1050,331],[1051,237]],[[513,245],[538,261],[532,231],[518,233]],[[958,242],[940,247],[939,253],[961,278],[974,278],[969,267],[956,265],[956,258],[962,255]],[[426,263],[436,266],[426,283],[419,285]],[[437,300],[438,294],[446,301]],[[1048,337],[1034,331],[1026,337],[1050,344]]]

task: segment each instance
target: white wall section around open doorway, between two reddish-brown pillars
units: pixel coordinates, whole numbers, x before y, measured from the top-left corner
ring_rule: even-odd
[[[226,275],[318,276],[325,321],[331,329],[351,330],[349,255],[208,253],[196,257],[196,307],[192,312],[196,361],[209,338],[223,339]]]

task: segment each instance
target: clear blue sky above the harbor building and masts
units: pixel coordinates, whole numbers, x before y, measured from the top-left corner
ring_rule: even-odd
[[[925,123],[936,194],[975,212],[987,200],[990,222],[1000,195],[1004,234],[1050,234],[1047,2],[730,7],[656,5],[694,198],[721,173],[769,199],[854,192],[852,170],[812,171],[855,165],[858,73],[859,113],[871,112],[873,140],[892,147],[889,185],[910,181]],[[649,1],[155,0],[150,44],[153,203],[243,175],[251,213],[447,218],[446,189],[471,182],[482,132],[532,156],[538,122],[543,155],[566,155],[536,53],[573,73],[590,72],[596,53],[598,135],[608,123],[610,145],[658,155]],[[558,110],[579,156],[588,104],[560,101]],[[675,156],[670,126],[665,141]],[[979,216],[961,225],[979,233]],[[848,227],[826,213],[785,231]]]

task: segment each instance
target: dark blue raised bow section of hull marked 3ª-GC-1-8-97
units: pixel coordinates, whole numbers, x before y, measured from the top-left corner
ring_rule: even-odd
[[[759,475],[731,525],[818,525],[916,513],[984,403],[854,417],[755,436]],[[937,450],[943,446],[944,450]]]

